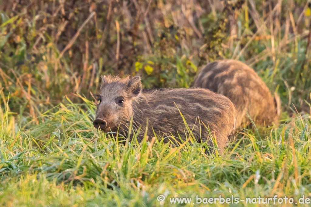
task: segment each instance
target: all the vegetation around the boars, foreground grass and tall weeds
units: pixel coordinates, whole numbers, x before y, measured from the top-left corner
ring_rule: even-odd
[[[0,206],[206,206],[220,196],[239,203],[211,205],[286,196],[292,204],[276,205],[309,206],[310,2],[219,2],[0,0]],[[138,143],[93,127],[101,75],[187,88],[224,58],[280,95],[280,125],[240,129],[222,156],[192,139]]]

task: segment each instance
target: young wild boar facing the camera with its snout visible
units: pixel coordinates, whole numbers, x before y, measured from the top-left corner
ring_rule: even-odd
[[[202,123],[210,128],[212,135],[215,133],[220,150],[234,130],[233,103],[227,97],[203,88],[142,90],[139,76],[131,79],[103,76],[98,101],[93,122],[96,128],[127,136],[130,120],[133,119],[133,128],[137,130],[141,127],[139,141],[146,126],[150,137],[155,132],[160,137],[173,135],[186,140],[187,129],[179,110],[189,128],[193,128],[192,133],[198,142],[201,139],[206,141],[209,135]]]

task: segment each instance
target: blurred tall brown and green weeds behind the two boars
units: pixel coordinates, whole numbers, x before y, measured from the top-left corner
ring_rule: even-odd
[[[103,74],[140,75],[146,88],[190,87],[202,65],[232,58],[280,94],[284,111],[293,103],[310,113],[310,7],[306,0],[0,0],[1,106],[38,122],[65,96],[91,100]]]

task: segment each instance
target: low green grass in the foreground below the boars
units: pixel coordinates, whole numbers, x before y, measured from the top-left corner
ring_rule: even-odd
[[[245,129],[218,157],[204,154],[207,143],[176,147],[158,138],[124,142],[98,133],[94,103],[80,98],[84,104],[64,101],[23,127],[1,110],[0,205],[161,206],[159,195],[165,206],[169,198],[196,195],[286,195],[297,202],[311,193],[310,115],[259,129],[262,139]]]

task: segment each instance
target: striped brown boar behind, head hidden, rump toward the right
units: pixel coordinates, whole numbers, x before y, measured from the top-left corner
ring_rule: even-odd
[[[275,93],[272,97],[268,87],[248,65],[235,60],[221,60],[204,66],[194,79],[193,87],[208,88],[229,97],[236,108],[236,124],[278,124],[281,106]]]

